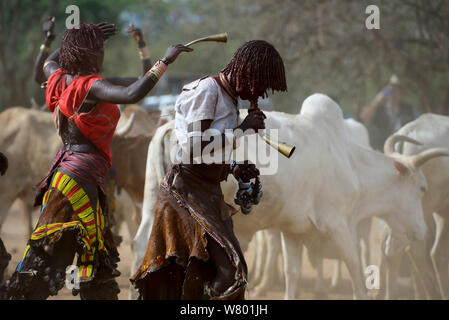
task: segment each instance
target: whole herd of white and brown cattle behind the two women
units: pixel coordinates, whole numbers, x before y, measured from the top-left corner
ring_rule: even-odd
[[[335,287],[344,265],[354,298],[397,299],[405,265],[414,297],[449,298],[449,117],[420,116],[390,136],[380,152],[370,147],[366,128],[344,119],[340,107],[323,94],[308,97],[298,114],[266,115],[267,129],[279,129],[279,140],[296,151],[290,159],[276,154],[276,172],[261,176],[261,202],[249,215],[233,217],[242,249],[253,249],[250,294],[260,297],[283,282],[285,299],[301,297],[306,248],[316,269],[317,292]],[[123,203],[123,197],[117,198],[116,220],[126,223],[133,238],[130,274],[145,253],[159,181],[174,159],[174,120],[163,120],[127,106],[111,146],[117,184],[128,196]],[[52,115],[44,111],[9,108],[0,113],[0,128],[0,151],[9,159],[0,178],[0,226],[18,200],[29,234],[32,187],[51,165],[60,138]],[[264,142],[248,148],[249,160],[262,166],[256,150],[266,148]],[[236,181],[229,178],[222,189],[233,204]],[[382,227],[373,228],[379,221]],[[378,248],[370,246],[372,230],[379,233]],[[3,240],[8,248],[8,239]],[[373,250],[380,251],[376,261]],[[334,260],[331,286],[323,281],[325,259]],[[373,265],[379,268],[375,288],[366,273]],[[131,287],[129,298],[135,298]]]

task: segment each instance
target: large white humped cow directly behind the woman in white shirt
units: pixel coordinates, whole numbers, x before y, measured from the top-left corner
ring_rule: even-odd
[[[426,181],[419,165],[449,152],[385,156],[363,147],[344,125],[339,106],[322,94],[307,98],[298,115],[266,114],[266,127],[280,129],[279,139],[296,145],[297,151],[290,159],[273,156],[272,161],[279,161],[278,170],[275,175],[262,177],[263,201],[252,214],[234,216],[234,223],[243,249],[257,230],[275,228],[283,232],[286,298],[295,297],[299,273],[295,241],[300,235],[332,241],[352,276],[355,296],[365,298],[356,228],[360,221],[374,215],[382,216],[410,239],[428,293],[439,297],[432,266],[427,264],[422,246],[427,228],[420,201]],[[134,239],[134,268],[148,242],[159,178],[170,165],[164,154],[170,153],[167,146],[171,128],[170,122],[159,128],[149,147],[143,217]],[[167,144],[162,144],[163,140]],[[249,146],[249,160],[260,167],[256,147],[263,149],[265,144],[259,141],[257,146]],[[226,187],[229,183],[233,188]],[[228,179],[223,185],[225,198],[231,199],[235,189],[235,182]]]

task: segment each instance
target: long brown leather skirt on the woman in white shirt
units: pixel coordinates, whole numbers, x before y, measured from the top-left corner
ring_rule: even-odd
[[[234,235],[219,182],[173,166],[161,183],[153,228],[145,256],[130,279],[139,299],[243,299],[247,266]],[[210,296],[207,282],[216,267],[207,241],[216,241],[235,267],[235,281],[224,293]]]

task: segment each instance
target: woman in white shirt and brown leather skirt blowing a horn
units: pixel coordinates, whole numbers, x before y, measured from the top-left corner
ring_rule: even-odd
[[[207,163],[194,150],[232,150],[247,130],[264,129],[260,110],[238,124],[237,101],[256,103],[269,89],[286,91],[287,83],[279,52],[263,40],[244,43],[219,75],[183,87],[175,105],[177,164],[160,184],[147,250],[131,278],[139,299],[244,299],[247,266],[233,231],[236,210],[224,201],[220,182],[230,174],[249,182],[259,170],[218,156]]]

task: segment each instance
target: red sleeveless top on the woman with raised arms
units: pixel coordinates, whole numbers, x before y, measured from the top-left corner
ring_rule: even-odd
[[[111,142],[120,119],[120,110],[115,104],[100,101],[92,111],[78,113],[92,83],[103,79],[103,77],[99,75],[79,76],[66,85],[64,77],[66,73],[64,70],[58,69],[48,78],[45,92],[47,106],[53,112],[54,117],[54,111],[59,104],[61,112],[75,122],[78,129],[100,150],[111,165]]]

